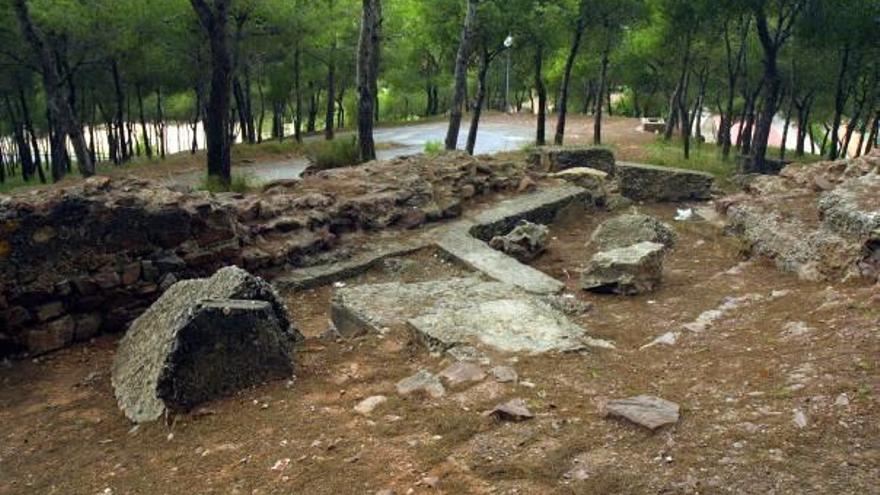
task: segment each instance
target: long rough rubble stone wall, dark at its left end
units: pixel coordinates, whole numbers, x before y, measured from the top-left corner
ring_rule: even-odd
[[[237,264],[272,276],[340,236],[415,228],[515,187],[524,164],[417,155],[320,172],[254,194],[91,178],[0,197],[0,356],[123,331],[178,279]]]

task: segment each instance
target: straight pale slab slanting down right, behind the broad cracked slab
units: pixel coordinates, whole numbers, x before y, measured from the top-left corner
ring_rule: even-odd
[[[437,241],[437,246],[470,268],[527,292],[556,294],[565,288],[559,280],[492,249],[464,229],[448,232]]]

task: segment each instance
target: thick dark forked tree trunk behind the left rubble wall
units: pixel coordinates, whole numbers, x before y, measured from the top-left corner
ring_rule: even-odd
[[[225,187],[232,182],[229,109],[232,86],[232,55],[228,23],[231,0],[214,0],[214,8],[205,0],[190,0],[208,33],[211,45],[211,93],[205,115],[208,140],[208,175]]]

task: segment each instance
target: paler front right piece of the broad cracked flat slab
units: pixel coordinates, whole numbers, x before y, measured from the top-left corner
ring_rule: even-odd
[[[539,353],[574,351],[588,345],[613,347],[588,337],[565,315],[532,299],[497,299],[470,307],[443,308],[408,323],[431,349],[483,344],[505,352]]]

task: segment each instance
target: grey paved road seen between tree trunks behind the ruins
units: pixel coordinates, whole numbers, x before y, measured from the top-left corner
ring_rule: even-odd
[[[458,147],[464,149],[467,141],[467,125],[463,122],[459,135]],[[427,124],[409,125],[403,127],[381,128],[374,133],[377,143],[394,143],[396,146],[382,149],[377,152],[380,160],[388,160],[402,155],[420,153],[425,149],[425,143],[429,141],[443,142],[446,138],[446,122],[430,122]],[[350,135],[350,134],[348,134]],[[339,137],[345,137],[340,134]],[[534,136],[534,129],[526,123],[485,123],[480,126],[477,134],[475,152],[477,154],[498,153],[500,151],[512,151],[522,148],[529,143]],[[244,167],[236,167],[236,173],[247,174],[260,182],[269,182],[280,179],[294,179],[302,174],[309,165],[304,158],[293,158],[277,162],[266,162]],[[197,182],[201,175],[181,177],[181,182],[192,179]]]

